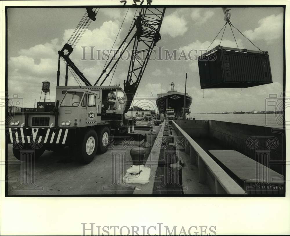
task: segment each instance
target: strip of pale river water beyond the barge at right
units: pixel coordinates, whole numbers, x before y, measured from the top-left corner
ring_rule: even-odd
[[[196,120],[217,120],[248,125],[283,128],[282,114],[191,114]]]

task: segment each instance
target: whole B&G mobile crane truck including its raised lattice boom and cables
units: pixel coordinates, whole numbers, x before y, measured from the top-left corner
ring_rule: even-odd
[[[75,32],[61,49],[58,57],[56,105],[52,112],[23,112],[13,113],[11,122],[6,124],[6,143],[12,143],[14,156],[24,161],[21,151],[34,150],[35,159],[45,150],[61,150],[69,146],[76,152],[82,163],[90,163],[96,155],[108,149],[111,137],[131,137],[135,141],[144,140],[146,134],[136,134],[134,129],[148,129],[138,127],[134,119],[126,119],[128,111],[137,91],[153,47],[161,39],[160,27],[165,8],[142,8],[134,19],[127,36],[108,62],[94,85],[70,60],[69,55],[91,21],[96,20],[97,12],[93,8],[86,8],[86,17],[83,17]],[[126,16],[125,16],[126,17]],[[133,30],[135,29],[135,32]],[[133,36],[126,44],[130,35]],[[120,86],[104,86],[103,83],[110,76],[110,72],[117,66],[123,52],[133,42],[132,55],[127,79],[124,80],[124,89]],[[124,51],[120,51],[121,48]],[[120,51],[119,57],[116,54]],[[145,57],[140,57],[144,54]],[[65,85],[60,86],[60,59],[66,63]],[[107,72],[111,63],[114,64]],[[68,85],[68,70],[84,83],[80,86]],[[102,79],[102,82],[97,85]],[[152,128],[152,127],[151,127]],[[140,145],[142,146],[142,145]],[[27,160],[27,159],[25,159]]]

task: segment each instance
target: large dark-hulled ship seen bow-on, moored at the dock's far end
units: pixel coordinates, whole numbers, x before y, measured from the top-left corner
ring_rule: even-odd
[[[167,93],[157,93],[156,104],[159,113],[166,113],[167,108],[174,108],[175,117],[179,118],[183,113],[184,93],[177,92],[174,88],[174,83],[171,84],[171,90]],[[192,102],[192,97],[186,93],[185,113],[189,114],[189,107]]]

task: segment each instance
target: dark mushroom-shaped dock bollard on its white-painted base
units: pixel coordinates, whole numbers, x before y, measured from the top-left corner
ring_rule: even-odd
[[[123,178],[126,183],[146,184],[149,182],[151,169],[143,165],[145,154],[146,151],[140,147],[130,150],[132,166],[127,169]]]

